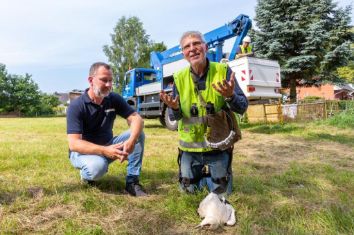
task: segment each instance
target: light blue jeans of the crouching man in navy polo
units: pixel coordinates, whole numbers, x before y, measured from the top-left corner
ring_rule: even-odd
[[[112,138],[105,146],[118,144],[129,138],[130,130],[127,130],[121,133],[121,135]],[[145,134],[142,132],[138,142],[135,144],[134,151],[128,156],[126,182],[133,182],[139,179],[141,164],[143,162],[144,144]],[[115,159],[107,158],[102,155],[84,155],[74,151],[70,153],[71,164],[73,164],[73,167],[76,169],[81,170],[81,176],[85,180],[99,180],[103,178],[105,173],[108,172],[108,165],[114,161]]]

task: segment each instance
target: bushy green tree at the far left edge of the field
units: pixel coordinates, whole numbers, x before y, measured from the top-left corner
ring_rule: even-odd
[[[0,109],[26,113],[39,104],[40,91],[31,75],[8,74],[6,66],[0,64]]]

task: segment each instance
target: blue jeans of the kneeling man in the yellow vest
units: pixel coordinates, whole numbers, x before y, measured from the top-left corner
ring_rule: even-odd
[[[204,153],[197,152],[187,152],[182,153],[181,158],[181,174],[182,177],[186,178],[200,178],[202,177],[202,169],[204,165],[209,167],[209,172],[211,173],[211,178],[218,179],[226,176],[227,167],[229,165],[229,153],[227,151],[211,151]],[[197,185],[190,185],[186,187],[188,191],[193,192],[196,190],[201,190],[205,185],[208,185],[209,191],[214,191],[218,184],[211,181],[211,178],[203,178]],[[183,190],[184,186],[179,184],[179,189]],[[227,191],[225,196],[231,194],[232,191],[232,173],[231,180],[227,185]]]

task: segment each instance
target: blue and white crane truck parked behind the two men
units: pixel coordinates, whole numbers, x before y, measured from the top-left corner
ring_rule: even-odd
[[[236,73],[238,84],[244,91],[250,104],[264,104],[269,99],[281,98],[281,80],[278,62],[256,57],[235,59],[236,48],[251,28],[251,19],[239,15],[224,26],[204,34],[209,52],[206,57],[211,62],[227,61]],[[224,41],[236,37],[231,53],[223,53]],[[151,68],[133,68],[123,78],[122,96],[142,118],[159,118],[161,124],[170,130],[176,130],[178,122],[168,118],[168,106],[159,97],[161,89],[172,91],[173,73],[189,66],[183,58],[180,46],[162,53],[150,54]],[[117,78],[119,79],[119,78]],[[117,81],[117,84],[119,82]]]

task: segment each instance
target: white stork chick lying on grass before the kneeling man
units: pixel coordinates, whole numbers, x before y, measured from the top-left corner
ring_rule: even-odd
[[[220,200],[219,196],[210,193],[199,205],[197,210],[200,218],[204,218],[196,228],[215,230],[220,225],[233,226],[236,223],[235,209],[224,197]]]

